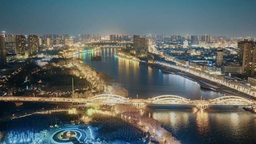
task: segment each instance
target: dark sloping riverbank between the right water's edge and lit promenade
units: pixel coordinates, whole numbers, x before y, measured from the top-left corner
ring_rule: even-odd
[[[181,71],[178,70],[176,68],[171,68],[171,67],[167,67],[164,65],[160,65],[160,64],[155,64],[155,63],[149,63],[149,62],[140,62],[140,64],[152,67],[152,68],[157,68],[159,70],[162,70],[163,73],[171,73],[171,74],[177,74],[179,76],[185,77],[187,79],[193,80],[194,82],[197,82],[201,85],[202,88],[204,89],[210,89],[213,91],[217,91],[217,92],[221,92],[223,94],[226,95],[235,95],[235,96],[242,96],[242,97],[246,97],[246,98],[250,98],[250,99],[256,99],[253,96],[244,94],[240,91],[237,91],[235,89],[231,89],[227,86],[221,85],[219,83],[216,82],[212,82],[210,80],[195,76],[193,74],[187,73],[185,71]]]

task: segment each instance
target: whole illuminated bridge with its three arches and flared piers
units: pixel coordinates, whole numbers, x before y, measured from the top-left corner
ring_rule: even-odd
[[[43,101],[43,102],[72,102],[73,104],[89,105],[99,104],[132,104],[134,107],[143,108],[150,104],[157,105],[194,105],[196,108],[204,110],[211,105],[256,105],[252,101],[240,96],[222,96],[208,100],[191,100],[177,95],[161,95],[149,99],[130,99],[119,95],[101,94],[89,98],[48,98],[48,97],[20,97],[2,96],[1,101]]]

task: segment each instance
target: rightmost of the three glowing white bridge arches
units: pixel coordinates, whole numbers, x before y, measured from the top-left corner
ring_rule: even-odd
[[[222,96],[222,97],[219,97],[219,98],[215,98],[215,99],[210,99],[210,101],[214,101],[215,104],[227,104],[227,103],[230,103],[230,104],[235,104],[235,105],[250,105],[250,104],[253,104],[253,102],[250,100],[250,99],[247,99],[247,98],[243,98],[243,97],[240,97],[240,96]]]

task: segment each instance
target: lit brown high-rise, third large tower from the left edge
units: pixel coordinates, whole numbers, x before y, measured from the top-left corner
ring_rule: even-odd
[[[28,35],[28,55],[38,53],[39,37],[37,35]]]

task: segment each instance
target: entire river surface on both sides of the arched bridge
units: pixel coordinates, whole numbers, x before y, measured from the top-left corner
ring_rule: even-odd
[[[76,57],[96,71],[112,76],[129,91],[129,97],[150,98],[174,94],[190,99],[213,99],[223,94],[200,88],[192,80],[174,74],[164,74],[138,62],[115,57],[115,49],[82,53]],[[101,61],[90,57],[101,55]],[[182,144],[256,144],[256,115],[242,107],[210,107],[194,112],[192,107],[150,106],[150,117],[163,123]]]

